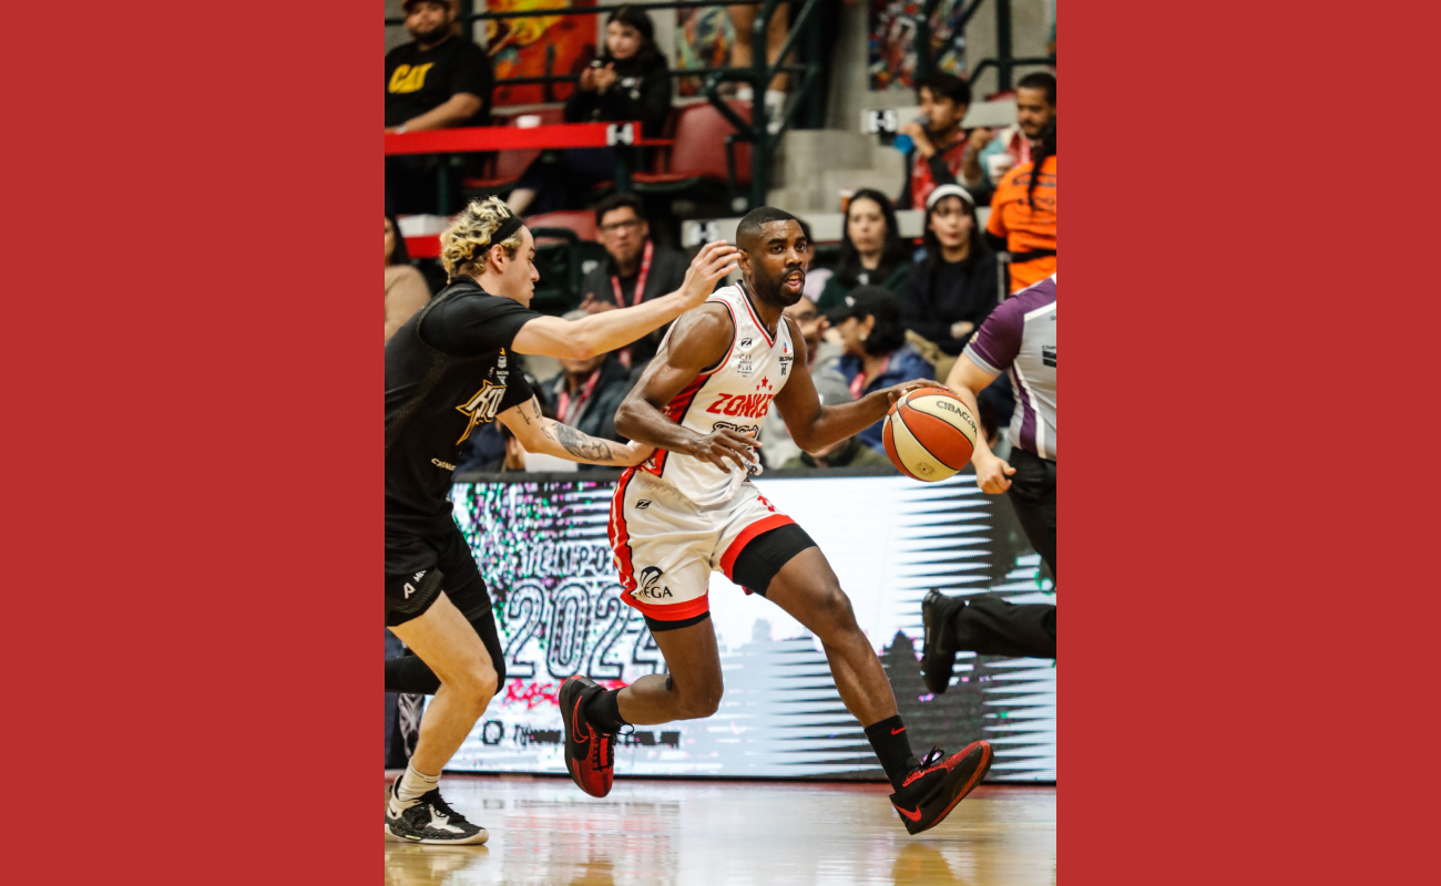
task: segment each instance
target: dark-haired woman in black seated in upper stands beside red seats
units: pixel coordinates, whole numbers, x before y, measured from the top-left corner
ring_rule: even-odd
[[[605,20],[605,52],[581,73],[581,82],[565,102],[565,120],[638,120],[641,133],[654,138],[666,125],[670,91],[670,66],[656,48],[650,16],[625,4]],[[520,215],[578,205],[586,189],[615,177],[615,150],[546,151],[510,192],[510,209]]]

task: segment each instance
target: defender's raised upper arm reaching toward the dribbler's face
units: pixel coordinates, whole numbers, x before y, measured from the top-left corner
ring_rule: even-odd
[[[535,317],[516,333],[512,349],[523,354],[584,360],[625,347],[709,298],[716,281],[735,271],[736,254],[736,248],[725,241],[706,243],[674,292],[635,307],[591,314],[574,323],[559,317]]]

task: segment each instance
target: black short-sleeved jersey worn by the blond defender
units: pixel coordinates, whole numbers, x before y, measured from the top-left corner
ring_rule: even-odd
[[[460,445],[530,399],[510,343],[539,316],[461,277],[385,343],[386,534],[452,529],[447,496]]]

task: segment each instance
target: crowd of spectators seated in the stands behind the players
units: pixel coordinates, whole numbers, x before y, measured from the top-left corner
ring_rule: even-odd
[[[409,0],[405,13],[414,42],[386,55],[386,131],[486,122],[494,85],[490,62],[455,33],[451,4]],[[784,29],[780,33],[784,37]],[[617,7],[605,20],[602,43],[565,102],[565,120],[640,120],[647,135],[657,134],[670,111],[672,78],[650,17],[635,6]],[[804,334],[810,370],[827,403],[912,379],[944,380],[1006,291],[1056,269],[1055,76],[1023,76],[1014,89],[1016,122],[1000,130],[963,128],[971,94],[960,76],[921,79],[916,99],[922,120],[899,131],[906,174],[898,199],[875,189],[855,192],[844,205],[839,258],[833,267],[820,267],[813,249],[804,297],[787,310]],[[767,97],[767,104],[777,101]],[[566,317],[674,291],[689,264],[686,254],[657,241],[640,197],[610,193],[597,200],[595,184],[612,176],[615,150],[621,148],[546,151],[507,197],[522,215],[594,210],[604,259],[585,272],[579,304]],[[427,156],[386,160],[386,340],[431,297],[392,213],[432,210],[435,166]],[[977,209],[986,206],[990,215],[983,226]],[[919,242],[901,236],[898,209],[924,210]],[[549,377],[532,379],[532,388],[548,413],[594,437],[623,439],[614,428],[615,408],[664,333],[657,330],[602,357],[563,360]],[[1003,376],[980,402],[978,418],[989,438],[1006,426],[1012,409]],[[768,468],[886,464],[879,424],[826,452],[801,452],[774,415],[762,435]],[[1004,441],[993,445],[1004,447]],[[509,471],[525,465],[519,444],[493,424],[471,437],[457,468]]]

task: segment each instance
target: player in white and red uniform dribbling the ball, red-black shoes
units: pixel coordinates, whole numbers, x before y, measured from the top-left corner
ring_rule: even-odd
[[[627,723],[706,717],[720,703],[720,655],[710,624],[710,572],[781,607],[820,638],[846,709],[866,728],[908,831],[938,824],[984,778],[991,748],[911,753],[895,696],[850,599],[816,543],[751,483],[755,439],[771,401],[803,449],[823,449],[880,421],[909,382],[823,406],[806,369],[806,341],[781,311],[795,304],[810,251],[797,219],[761,207],[736,231],[744,281],[683,314],[615,413],[615,429],[656,447],[621,477],[610,536],[623,599],[641,611],[666,657],[620,690],[586,677],[561,687],[565,756],[582,791],[604,797],[614,736]]]

